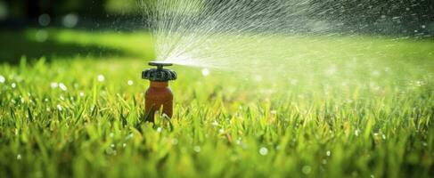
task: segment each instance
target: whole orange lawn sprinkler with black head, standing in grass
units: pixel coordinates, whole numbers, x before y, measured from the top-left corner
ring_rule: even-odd
[[[150,66],[157,69],[146,69],[142,72],[142,78],[151,81],[144,96],[144,108],[147,120],[154,122],[155,112],[161,109],[162,113],[168,117],[173,114],[173,93],[168,87],[168,81],[176,80],[176,72],[170,69],[163,69],[172,66],[172,63],[151,61]]]

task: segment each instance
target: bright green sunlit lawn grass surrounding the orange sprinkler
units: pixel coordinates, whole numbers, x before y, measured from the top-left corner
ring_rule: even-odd
[[[152,125],[147,33],[36,33],[0,32],[0,177],[434,175],[432,41],[292,37],[320,60],[284,77],[176,66],[174,117]]]

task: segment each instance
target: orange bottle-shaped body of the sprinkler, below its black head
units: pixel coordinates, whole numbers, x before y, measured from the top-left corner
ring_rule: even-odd
[[[168,87],[168,82],[151,81],[144,98],[145,113],[149,122],[155,121],[155,113],[160,110],[161,114],[172,117],[173,93]]]

